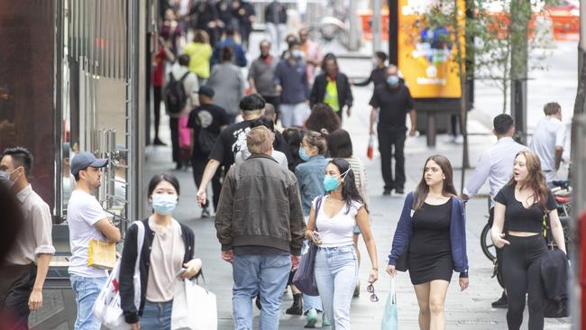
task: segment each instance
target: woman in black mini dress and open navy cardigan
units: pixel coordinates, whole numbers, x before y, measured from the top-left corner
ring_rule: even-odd
[[[420,329],[445,329],[444,302],[453,271],[468,288],[465,210],[453,188],[450,160],[426,160],[417,190],[405,198],[387,272],[409,270],[419,305]]]

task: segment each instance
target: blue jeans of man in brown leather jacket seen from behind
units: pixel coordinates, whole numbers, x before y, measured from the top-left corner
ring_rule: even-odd
[[[235,330],[252,330],[252,298],[261,293],[261,330],[278,330],[280,303],[291,270],[288,254],[234,255],[232,313]]]

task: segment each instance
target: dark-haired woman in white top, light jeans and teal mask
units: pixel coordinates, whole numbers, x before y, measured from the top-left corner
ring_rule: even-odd
[[[356,188],[347,160],[331,160],[325,169],[324,197],[312,203],[306,237],[319,246],[316,254],[316,284],[325,316],[334,329],[350,329],[350,303],[358,280],[358,261],[353,247],[353,229],[358,225],[372,269],[368,282],[379,278],[377,249],[368,220],[368,209]],[[317,212],[316,212],[317,209]],[[369,285],[368,289],[374,289]],[[376,295],[371,301],[378,301]]]

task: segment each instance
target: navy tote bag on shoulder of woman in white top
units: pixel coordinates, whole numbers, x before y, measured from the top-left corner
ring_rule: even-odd
[[[317,197],[316,210],[314,212],[314,223],[317,229],[317,213],[319,208],[322,206],[323,196]],[[309,242],[309,251],[303,255],[301,262],[299,262],[299,268],[293,276],[293,284],[299,289],[299,291],[305,293],[307,296],[319,296],[317,291],[316,283],[316,254],[317,245],[313,242]]]

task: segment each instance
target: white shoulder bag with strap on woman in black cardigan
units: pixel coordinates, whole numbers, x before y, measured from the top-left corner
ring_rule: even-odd
[[[142,243],[144,242],[144,225],[141,221],[134,222],[138,226],[137,238],[137,258],[134,263],[134,305],[138,310],[141,306],[141,273],[138,270],[141,263]],[[124,313],[120,302],[119,279],[120,279],[120,262],[118,259],[114,269],[110,273],[108,281],[96,298],[94,303],[94,316],[109,329],[126,330],[131,326],[124,320]]]

